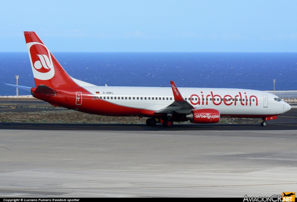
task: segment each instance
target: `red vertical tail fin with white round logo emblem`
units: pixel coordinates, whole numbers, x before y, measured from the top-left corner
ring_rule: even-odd
[[[24,32],[36,87],[77,87],[34,31]]]

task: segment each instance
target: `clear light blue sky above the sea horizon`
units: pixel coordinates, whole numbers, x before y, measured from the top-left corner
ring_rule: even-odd
[[[297,52],[297,1],[0,0],[0,52]]]

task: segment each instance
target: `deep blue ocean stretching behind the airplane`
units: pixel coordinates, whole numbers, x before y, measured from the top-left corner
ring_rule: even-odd
[[[67,73],[108,86],[297,90],[297,53],[53,53]],[[26,52],[0,53],[0,95],[15,95],[4,83],[35,87]],[[20,95],[30,92],[19,90]]]

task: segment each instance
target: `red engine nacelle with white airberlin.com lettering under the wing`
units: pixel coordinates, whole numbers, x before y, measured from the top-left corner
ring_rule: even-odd
[[[218,123],[220,112],[217,109],[196,109],[187,114],[191,123]]]

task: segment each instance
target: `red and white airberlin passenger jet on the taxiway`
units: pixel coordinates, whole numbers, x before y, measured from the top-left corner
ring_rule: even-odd
[[[259,90],[230,88],[96,86],[72,78],[33,31],[24,32],[36,87],[7,84],[53,106],[104,116],[148,117],[146,124],[190,121],[218,123],[222,117],[267,120],[291,109],[278,96]]]

